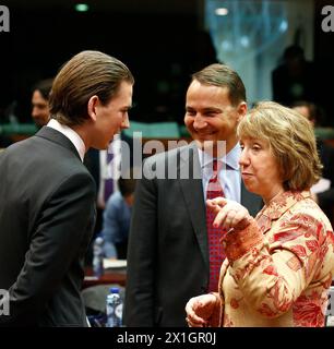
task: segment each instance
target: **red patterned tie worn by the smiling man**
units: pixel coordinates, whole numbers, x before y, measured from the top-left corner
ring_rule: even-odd
[[[208,181],[206,189],[206,198],[215,198],[218,196],[225,196],[223,188],[218,180],[218,172],[222,167],[222,163],[213,160],[213,176]],[[208,258],[210,258],[210,281],[208,292],[217,291],[219,272],[223,261],[225,260],[225,253],[223,250],[222,238],[224,231],[222,228],[214,228],[213,221],[215,214],[206,208],[206,229],[207,229],[207,242],[208,242]]]

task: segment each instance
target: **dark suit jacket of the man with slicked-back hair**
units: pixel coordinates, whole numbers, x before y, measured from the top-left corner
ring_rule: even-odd
[[[95,186],[74,145],[43,128],[0,154],[2,326],[86,326],[83,258],[95,219]]]

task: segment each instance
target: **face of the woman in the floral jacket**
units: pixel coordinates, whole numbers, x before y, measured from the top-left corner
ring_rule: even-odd
[[[241,137],[239,159],[241,177],[246,188],[269,203],[284,192],[278,164],[266,141]]]

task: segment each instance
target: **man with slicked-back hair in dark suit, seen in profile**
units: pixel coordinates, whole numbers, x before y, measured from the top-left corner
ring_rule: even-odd
[[[133,76],[98,51],[74,56],[56,76],[51,120],[0,154],[2,326],[87,326],[81,287],[95,219],[83,158],[129,127]]]

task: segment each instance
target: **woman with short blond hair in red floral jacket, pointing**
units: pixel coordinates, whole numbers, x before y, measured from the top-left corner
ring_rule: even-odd
[[[239,123],[246,188],[262,196],[252,218],[240,204],[207,201],[226,260],[218,292],[186,306],[189,326],[324,326],[334,272],[333,228],[309,189],[321,173],[310,123],[261,103]]]

